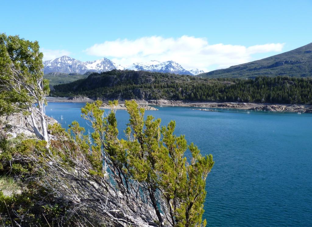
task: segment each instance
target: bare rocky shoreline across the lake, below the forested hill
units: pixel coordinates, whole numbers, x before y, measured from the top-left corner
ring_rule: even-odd
[[[94,102],[93,99],[86,97],[48,97],[48,102]],[[243,110],[256,110],[256,111],[287,111],[287,112],[300,112],[312,113],[312,105],[308,104],[271,104],[271,103],[254,103],[254,102],[190,102],[179,100],[137,100],[138,104],[145,110],[157,110],[153,106],[186,106],[198,108],[222,108],[222,109],[243,109]],[[107,103],[107,101],[104,101]],[[152,106],[150,106],[152,105]],[[109,108],[104,104],[103,108]],[[124,102],[119,101],[117,109],[125,109]]]

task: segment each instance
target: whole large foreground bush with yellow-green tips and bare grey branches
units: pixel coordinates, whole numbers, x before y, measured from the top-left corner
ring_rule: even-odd
[[[212,155],[203,157],[184,136],[175,136],[174,121],[160,127],[160,119],[144,120],[144,109],[134,101],[126,102],[129,126],[126,139],[119,139],[113,108],[117,102],[110,103],[106,117],[101,104],[81,109],[94,129],[91,137],[73,122],[68,131],[57,124],[51,127],[55,140],[49,149],[28,144],[33,152],[27,158],[36,160],[23,192],[30,194],[0,196],[8,208],[6,221],[31,225],[31,214],[38,226],[206,225],[202,214]],[[37,208],[23,216],[16,212],[17,204]]]

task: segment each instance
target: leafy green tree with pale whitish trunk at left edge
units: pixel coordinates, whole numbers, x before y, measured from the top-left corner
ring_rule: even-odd
[[[42,57],[37,41],[0,34],[0,114],[22,113],[32,132],[48,142],[44,117],[50,89],[43,79]]]

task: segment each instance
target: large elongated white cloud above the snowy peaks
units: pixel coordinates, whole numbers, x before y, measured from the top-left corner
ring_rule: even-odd
[[[198,68],[204,71],[242,64],[252,59],[252,54],[281,52],[284,44],[264,45],[210,45],[205,38],[183,35],[179,38],[161,36],[142,37],[136,40],[117,39],[95,44],[84,50],[99,57],[109,57],[116,64],[129,65],[150,60],[173,60],[184,68]]]

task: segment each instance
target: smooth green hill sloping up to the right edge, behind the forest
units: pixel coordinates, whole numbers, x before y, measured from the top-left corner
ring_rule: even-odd
[[[312,43],[265,59],[218,69],[197,76],[208,78],[257,76],[312,77]]]

